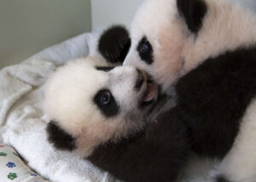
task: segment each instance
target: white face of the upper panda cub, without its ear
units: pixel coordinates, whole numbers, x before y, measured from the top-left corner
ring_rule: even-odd
[[[131,24],[131,48],[124,62],[150,73],[164,89],[183,67],[187,38],[175,6],[174,0],[143,3]]]

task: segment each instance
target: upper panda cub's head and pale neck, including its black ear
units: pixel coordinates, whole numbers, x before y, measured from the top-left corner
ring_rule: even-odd
[[[147,0],[131,24],[124,65],[167,89],[202,61],[252,45],[255,35],[255,16],[225,0]]]

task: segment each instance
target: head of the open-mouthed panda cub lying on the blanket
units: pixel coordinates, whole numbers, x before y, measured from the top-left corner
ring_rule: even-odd
[[[143,128],[158,99],[157,86],[143,71],[90,57],[55,71],[44,93],[49,141],[79,156]]]

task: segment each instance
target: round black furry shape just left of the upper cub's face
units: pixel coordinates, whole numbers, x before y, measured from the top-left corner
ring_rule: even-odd
[[[124,26],[111,26],[102,33],[98,49],[102,56],[111,63],[122,64],[131,47],[129,32]]]

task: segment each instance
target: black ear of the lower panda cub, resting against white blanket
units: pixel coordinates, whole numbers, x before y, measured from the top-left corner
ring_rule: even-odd
[[[73,151],[77,148],[76,139],[71,134],[67,134],[65,130],[60,128],[56,122],[50,121],[46,128],[48,141],[52,143],[56,149]]]

